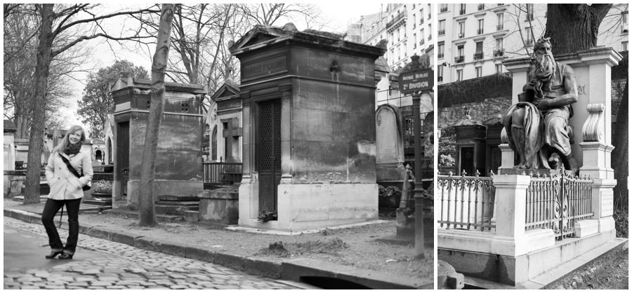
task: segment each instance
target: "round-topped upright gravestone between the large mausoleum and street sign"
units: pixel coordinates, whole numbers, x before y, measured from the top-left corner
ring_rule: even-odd
[[[375,111],[377,182],[404,179],[404,139],[400,109],[382,104]],[[402,189],[402,186],[399,186]]]

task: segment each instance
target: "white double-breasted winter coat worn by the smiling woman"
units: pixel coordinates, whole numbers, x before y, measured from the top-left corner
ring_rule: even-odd
[[[46,182],[48,182],[48,186],[51,186],[51,193],[48,193],[48,198],[67,200],[84,197],[84,191],[81,187],[88,184],[92,180],[93,175],[90,154],[84,149],[80,149],[79,153],[70,157],[63,153],[61,155],[70,161],[70,165],[72,165],[74,170],[77,170],[79,175],[81,175],[81,170],[83,170],[84,176],[81,178],[74,176],[60,158],[60,154],[53,152],[51,157],[48,158],[48,165],[46,165]]]

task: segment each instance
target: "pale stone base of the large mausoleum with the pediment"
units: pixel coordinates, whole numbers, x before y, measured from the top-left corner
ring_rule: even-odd
[[[378,219],[377,184],[279,184],[277,221],[259,222],[258,183],[239,186],[239,226],[305,231]]]

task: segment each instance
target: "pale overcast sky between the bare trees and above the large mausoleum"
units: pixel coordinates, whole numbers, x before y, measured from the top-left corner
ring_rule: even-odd
[[[376,13],[380,11],[381,4],[374,1],[364,1],[364,2],[355,2],[350,3],[347,1],[327,1],[324,4],[320,4],[322,8],[323,15],[329,16],[338,22],[337,27],[341,27],[341,29],[337,29],[339,32],[344,31],[347,22],[351,19],[360,19],[362,15],[368,15],[371,13]],[[281,23],[281,22],[279,22]],[[281,23],[279,26],[284,25],[285,22]],[[299,30],[305,29],[305,27],[301,24],[295,23],[296,27]],[[110,64],[114,62],[114,60],[129,60],[134,63],[136,66],[143,66],[147,69],[148,73],[151,74],[151,57],[145,54],[135,54],[126,52],[126,50],[120,50],[120,48],[113,48],[116,53],[112,53],[110,46],[107,45],[103,40],[92,40],[86,42],[88,46],[91,46],[93,49],[93,57],[91,60],[91,64],[89,64],[86,68],[91,71],[98,71],[98,69],[102,67],[108,67]],[[113,43],[114,47],[117,47],[115,43]],[[150,49],[155,50],[155,48],[150,47]],[[74,81],[72,85],[74,97],[72,97],[72,101],[70,104],[72,105],[70,109],[65,111],[65,115],[69,118],[68,126],[79,124],[82,125],[79,116],[77,116],[77,100],[81,99],[81,95],[84,90],[84,84],[86,83],[86,79],[88,77],[87,73],[77,74],[74,76],[79,81]],[[89,128],[86,127],[86,130]]]

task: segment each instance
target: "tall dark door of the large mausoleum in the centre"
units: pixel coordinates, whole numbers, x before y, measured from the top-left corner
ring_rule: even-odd
[[[277,210],[281,182],[281,99],[259,103],[259,211]]]

